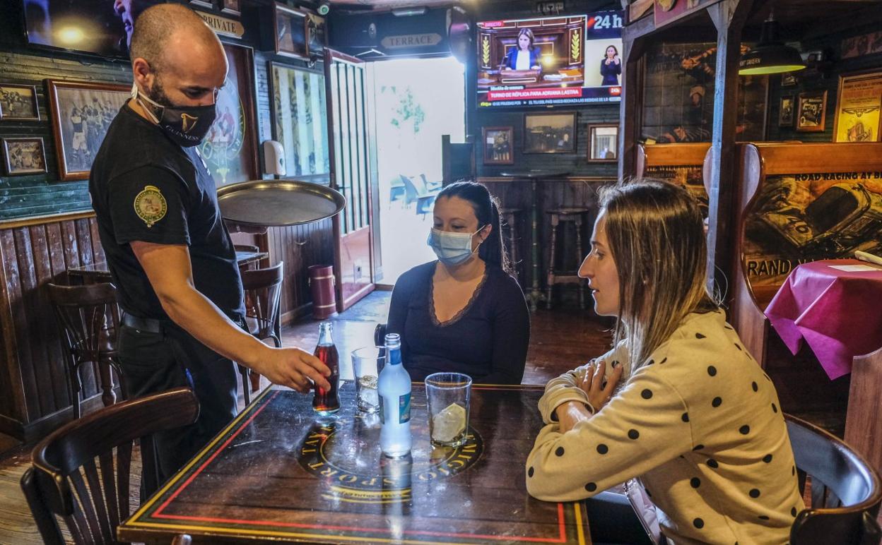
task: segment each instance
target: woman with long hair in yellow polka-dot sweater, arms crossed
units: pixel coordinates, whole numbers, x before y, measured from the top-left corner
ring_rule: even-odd
[[[600,206],[579,276],[594,310],[617,317],[614,348],[545,387],[527,491],[572,501],[639,477],[629,490],[651,498],[664,542],[788,541],[804,504],[787,425],[706,290],[698,203],[638,181],[604,188]]]

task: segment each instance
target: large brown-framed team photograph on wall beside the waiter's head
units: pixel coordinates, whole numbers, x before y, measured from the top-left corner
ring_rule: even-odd
[[[130,85],[47,79],[52,133],[62,180],[86,180],[110,122],[131,96]]]

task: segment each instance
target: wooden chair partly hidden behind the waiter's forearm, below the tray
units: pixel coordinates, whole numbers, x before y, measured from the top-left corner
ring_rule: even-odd
[[[269,269],[242,271],[245,290],[245,318],[250,334],[261,341],[273,339],[276,348],[281,346],[281,282],[284,278],[284,261]],[[252,328],[253,327],[253,328]],[[250,370],[239,365],[245,403],[251,402]]]

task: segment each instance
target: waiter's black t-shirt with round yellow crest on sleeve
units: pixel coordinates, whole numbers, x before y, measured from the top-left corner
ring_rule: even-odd
[[[89,177],[101,246],[126,313],[168,320],[129,243],[186,244],[196,289],[230,318],[245,313],[235,248],[195,148],[173,143],[124,105]]]

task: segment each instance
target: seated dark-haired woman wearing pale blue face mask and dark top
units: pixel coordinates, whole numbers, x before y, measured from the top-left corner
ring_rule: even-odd
[[[387,333],[401,335],[410,378],[463,372],[475,383],[520,384],[527,361],[527,302],[509,275],[499,210],[481,184],[458,181],[437,195],[428,244],[437,261],[400,276]]]

